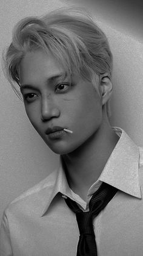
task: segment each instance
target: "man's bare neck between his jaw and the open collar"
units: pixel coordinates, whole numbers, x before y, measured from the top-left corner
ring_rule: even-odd
[[[98,180],[119,137],[110,125],[103,124],[81,147],[62,155],[65,174],[70,188],[87,200],[87,192]]]

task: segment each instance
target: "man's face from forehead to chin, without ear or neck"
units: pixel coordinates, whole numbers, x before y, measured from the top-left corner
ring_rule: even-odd
[[[96,133],[102,122],[102,103],[91,82],[77,74],[71,84],[69,79],[61,80],[61,66],[43,51],[27,52],[19,73],[27,116],[53,152],[73,152]],[[47,135],[46,130],[55,126],[73,133]]]

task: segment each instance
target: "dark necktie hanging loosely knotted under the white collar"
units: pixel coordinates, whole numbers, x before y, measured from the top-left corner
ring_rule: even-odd
[[[76,214],[79,228],[79,241],[76,256],[96,256],[97,247],[95,232],[93,230],[93,217],[95,218],[101,210],[115,196],[117,188],[102,182],[98,190],[93,194],[89,202],[89,212],[82,212],[75,201],[69,197],[65,199],[68,207]]]

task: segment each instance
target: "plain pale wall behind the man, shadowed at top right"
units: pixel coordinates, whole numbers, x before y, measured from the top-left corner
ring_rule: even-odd
[[[105,32],[114,57],[111,125],[122,127],[143,145],[143,35],[141,1],[1,0],[0,49],[8,46],[13,26],[21,18],[42,15],[58,7],[79,5],[91,12]],[[135,4],[136,3],[136,4]],[[58,165],[28,120],[1,69],[0,76],[0,221],[6,205],[44,179]],[[87,170],[88,171],[88,170]]]

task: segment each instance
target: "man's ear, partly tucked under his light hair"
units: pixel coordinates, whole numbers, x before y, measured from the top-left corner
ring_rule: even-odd
[[[108,99],[110,99],[111,97],[113,85],[111,84],[110,77],[108,76],[107,73],[101,74],[99,76],[99,82],[100,82],[102,105],[104,105],[108,101]]]

